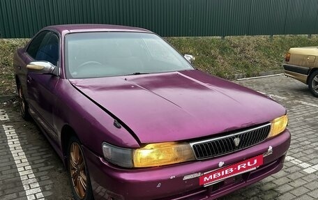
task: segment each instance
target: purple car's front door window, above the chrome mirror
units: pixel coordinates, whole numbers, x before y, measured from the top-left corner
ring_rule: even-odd
[[[49,32],[45,35],[35,59],[48,61],[57,66],[57,61],[59,61],[59,37],[55,33]]]

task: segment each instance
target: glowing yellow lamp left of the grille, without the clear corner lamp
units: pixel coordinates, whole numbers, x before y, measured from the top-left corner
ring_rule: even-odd
[[[188,143],[147,144],[133,151],[134,167],[156,167],[190,160],[195,160],[195,157]]]

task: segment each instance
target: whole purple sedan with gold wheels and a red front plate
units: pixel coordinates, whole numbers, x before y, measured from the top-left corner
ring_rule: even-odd
[[[282,169],[285,108],[193,60],[151,31],[103,24],[48,26],[17,49],[22,117],[75,199],[215,199]]]

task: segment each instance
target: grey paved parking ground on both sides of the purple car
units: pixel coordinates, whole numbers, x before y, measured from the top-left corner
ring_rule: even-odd
[[[292,144],[282,171],[220,199],[318,199],[318,98],[284,76],[236,83],[287,108]],[[72,199],[69,188],[66,169],[36,125],[1,104],[0,199]]]

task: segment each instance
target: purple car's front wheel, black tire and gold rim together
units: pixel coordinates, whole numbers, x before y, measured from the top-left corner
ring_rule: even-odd
[[[71,137],[68,142],[68,177],[75,200],[93,199],[91,180],[87,168],[82,145],[77,137]]]

